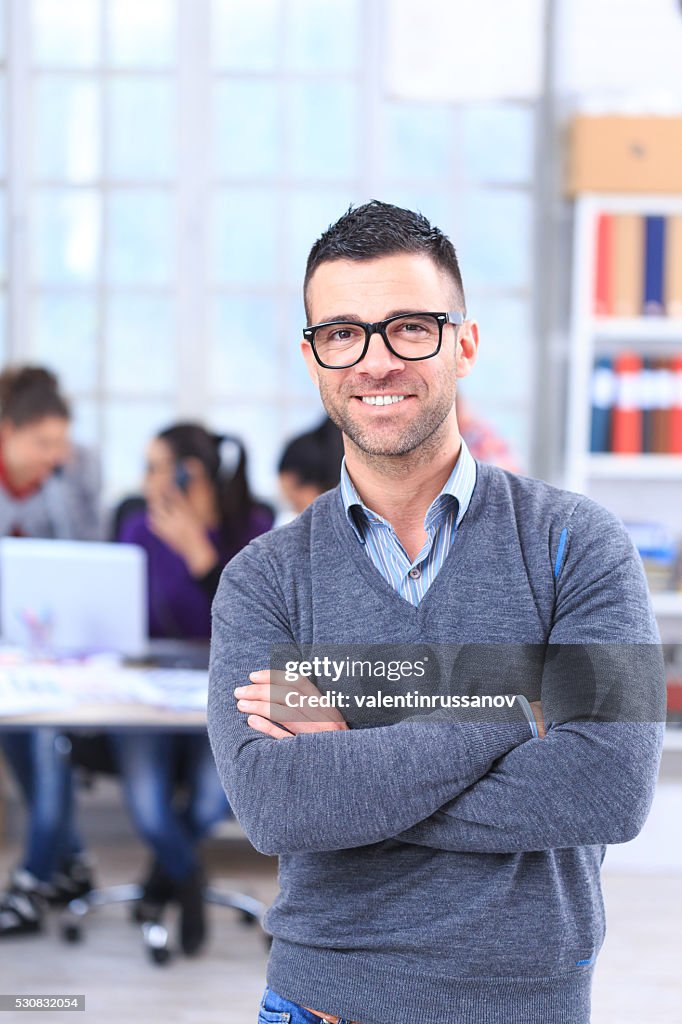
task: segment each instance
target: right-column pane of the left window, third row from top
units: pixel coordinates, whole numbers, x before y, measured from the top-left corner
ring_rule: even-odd
[[[114,285],[167,285],[175,264],[175,211],[164,193],[115,193],[109,207],[106,270]]]

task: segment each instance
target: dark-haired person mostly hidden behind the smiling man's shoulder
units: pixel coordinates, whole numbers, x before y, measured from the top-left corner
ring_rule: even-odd
[[[314,430],[289,441],[280,458],[278,473],[285,500],[296,515],[336,486],[342,459],[341,431],[329,417]]]

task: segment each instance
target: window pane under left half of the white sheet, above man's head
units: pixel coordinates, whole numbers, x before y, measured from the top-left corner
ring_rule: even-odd
[[[388,180],[450,177],[453,134],[453,111],[445,103],[389,103],[384,154]]]

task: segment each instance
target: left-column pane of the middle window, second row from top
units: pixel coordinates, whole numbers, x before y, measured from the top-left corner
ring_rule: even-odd
[[[276,174],[280,90],[273,82],[219,82],[214,93],[215,169],[220,177]]]

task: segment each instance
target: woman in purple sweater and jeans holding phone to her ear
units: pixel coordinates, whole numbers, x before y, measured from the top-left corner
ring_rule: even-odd
[[[251,496],[244,446],[197,423],[158,434],[146,453],[143,509],[123,519],[118,540],[146,551],[152,637],[206,640],[211,602],[229,559],[269,529],[272,513]],[[206,733],[116,733],[114,751],[128,808],[155,862],[139,910],[156,918],[175,898],[180,945],[191,955],[206,934],[198,845],[230,812]],[[185,790],[178,810],[178,776]]]

